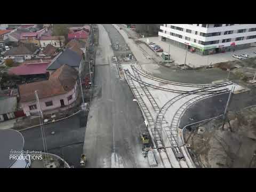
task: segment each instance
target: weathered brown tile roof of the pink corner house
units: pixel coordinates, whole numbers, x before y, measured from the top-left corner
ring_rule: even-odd
[[[74,88],[77,77],[76,69],[62,65],[54,71],[49,80],[19,85],[20,101],[35,100],[35,91],[37,91],[39,99],[66,93]]]

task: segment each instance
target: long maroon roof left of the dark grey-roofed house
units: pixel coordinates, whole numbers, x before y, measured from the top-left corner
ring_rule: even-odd
[[[15,75],[37,75],[37,74],[46,74],[46,68],[50,62],[42,63],[22,63],[18,67],[13,67],[9,70],[9,74]]]

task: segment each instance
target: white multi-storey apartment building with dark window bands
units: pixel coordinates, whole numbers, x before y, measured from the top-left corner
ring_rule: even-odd
[[[256,42],[256,24],[163,24],[162,41],[208,55],[245,49]]]

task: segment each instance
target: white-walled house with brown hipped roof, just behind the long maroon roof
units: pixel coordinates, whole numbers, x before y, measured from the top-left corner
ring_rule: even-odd
[[[18,47],[12,47],[4,53],[6,59],[13,59],[16,62],[23,62],[33,57],[37,52],[37,47],[34,44],[21,44]]]

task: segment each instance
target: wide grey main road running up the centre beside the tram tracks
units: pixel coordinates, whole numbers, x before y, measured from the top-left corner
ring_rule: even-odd
[[[147,167],[141,154],[140,133],[146,129],[141,111],[127,83],[119,79],[111,63],[111,39],[118,39],[111,25],[99,25],[99,47],[95,60],[95,92],[90,106],[84,140],[86,167],[111,167],[111,154],[123,160],[124,167]],[[119,36],[120,37],[120,36]],[[120,159],[119,159],[120,160]]]

